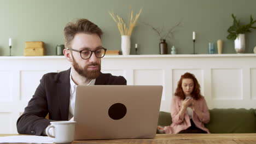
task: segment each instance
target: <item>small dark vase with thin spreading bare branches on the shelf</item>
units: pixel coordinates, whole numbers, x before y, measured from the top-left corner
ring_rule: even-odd
[[[167,54],[167,43],[166,43],[166,39],[167,38],[170,38],[171,39],[171,37],[170,37],[170,34],[172,35],[172,37],[173,37],[173,32],[174,32],[174,29],[176,28],[176,27],[178,27],[179,25],[181,25],[181,21],[179,21],[176,25],[174,25],[173,27],[171,27],[168,31],[167,31],[167,33],[165,33],[165,31],[164,31],[164,26],[162,26],[162,28],[160,29],[160,28],[156,28],[156,27],[153,27],[152,25],[149,25],[149,23],[146,23],[146,22],[142,22],[142,23],[144,23],[144,25],[146,25],[146,26],[149,26],[150,28],[152,28],[153,29],[153,31],[155,31],[157,34],[158,34],[158,36],[159,36],[159,38],[160,38],[160,43],[159,43],[159,53],[160,53],[160,55],[166,55]]]

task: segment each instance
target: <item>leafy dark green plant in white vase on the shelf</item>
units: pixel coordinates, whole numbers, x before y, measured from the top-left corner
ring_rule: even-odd
[[[234,14],[232,14],[232,18],[234,19],[233,25],[229,27],[229,35],[226,38],[229,40],[235,40],[235,50],[237,53],[244,53],[245,33],[251,32],[251,28],[256,29],[256,27],[253,27],[253,24],[256,22],[256,20],[253,20],[251,15],[250,23],[248,23],[247,25],[242,25],[240,23],[240,20],[237,20]]]

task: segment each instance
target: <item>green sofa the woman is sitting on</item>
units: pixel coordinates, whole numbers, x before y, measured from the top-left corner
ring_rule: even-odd
[[[256,109],[212,109],[205,127],[211,133],[256,133]],[[158,125],[171,125],[170,112],[160,111]]]

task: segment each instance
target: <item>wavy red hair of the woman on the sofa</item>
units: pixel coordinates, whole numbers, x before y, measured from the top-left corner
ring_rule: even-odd
[[[186,96],[182,90],[182,80],[183,79],[192,79],[193,80],[194,89],[193,89],[193,92],[191,93],[191,97],[193,97],[193,99],[195,99],[195,100],[199,100],[202,97],[201,91],[200,91],[200,85],[197,82],[195,75],[193,75],[191,73],[185,73],[184,75],[181,76],[181,79],[179,79],[178,86],[176,88],[174,95],[181,99],[185,99]]]

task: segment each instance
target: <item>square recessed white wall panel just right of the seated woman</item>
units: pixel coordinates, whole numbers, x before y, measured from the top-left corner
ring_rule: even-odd
[[[243,81],[241,69],[212,69],[212,97],[215,100],[241,100]]]

